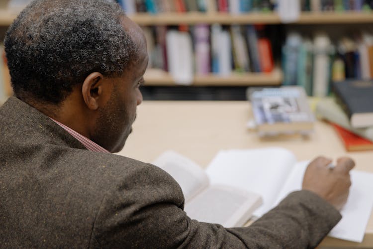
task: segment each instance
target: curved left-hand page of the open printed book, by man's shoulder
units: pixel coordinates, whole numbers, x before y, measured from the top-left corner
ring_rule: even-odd
[[[205,172],[196,163],[175,151],[165,151],[153,164],[179,183],[186,202],[209,185]]]

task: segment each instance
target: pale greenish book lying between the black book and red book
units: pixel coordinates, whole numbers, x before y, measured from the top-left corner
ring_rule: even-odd
[[[334,98],[323,98],[319,100],[316,104],[315,115],[320,119],[338,124],[339,126],[373,142],[373,126],[354,128],[350,124],[347,114],[342,110],[342,107],[337,104]]]

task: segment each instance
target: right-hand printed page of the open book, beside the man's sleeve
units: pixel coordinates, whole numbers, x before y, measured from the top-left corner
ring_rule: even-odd
[[[184,210],[191,219],[229,228],[244,225],[260,204],[261,197],[257,194],[213,185],[191,199]]]

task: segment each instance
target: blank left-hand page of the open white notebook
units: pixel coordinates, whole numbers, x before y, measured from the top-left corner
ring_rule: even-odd
[[[263,205],[255,212],[262,216],[271,207],[290,173],[296,159],[282,148],[220,151],[206,173],[211,184],[223,184],[254,192],[262,196]]]

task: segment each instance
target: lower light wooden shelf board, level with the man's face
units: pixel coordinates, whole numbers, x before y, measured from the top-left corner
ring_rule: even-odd
[[[282,78],[280,69],[272,73],[232,73],[227,77],[210,74],[195,76],[191,86],[278,86]],[[148,69],[144,79],[146,86],[177,86],[169,73],[158,69]]]

